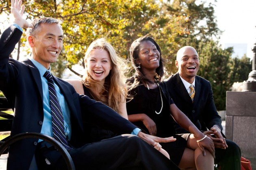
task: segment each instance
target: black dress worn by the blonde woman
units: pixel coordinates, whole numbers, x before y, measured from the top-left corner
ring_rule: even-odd
[[[90,92],[88,91],[85,85],[82,85],[84,89],[84,94],[89,98],[93,99]],[[103,139],[113,138],[119,134],[115,134],[111,130],[102,129],[96,125],[91,124],[90,122],[83,122],[83,128],[85,133],[85,140],[87,143],[98,142]]]

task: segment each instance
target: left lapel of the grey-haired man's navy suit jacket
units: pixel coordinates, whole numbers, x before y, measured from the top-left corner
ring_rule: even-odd
[[[30,68],[31,74],[35,80],[35,83],[37,84],[37,89],[39,90],[41,100],[43,101],[43,87],[42,87],[42,81],[41,81],[39,70],[36,68],[33,62],[31,62],[29,59],[24,60],[23,63],[27,64],[28,68]]]

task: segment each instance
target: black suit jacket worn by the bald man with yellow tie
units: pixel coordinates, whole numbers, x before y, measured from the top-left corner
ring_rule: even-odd
[[[195,98],[192,102],[178,72],[165,80],[171,98],[176,106],[196,125],[199,130],[206,131],[213,125],[218,125],[221,130],[221,117],[217,113],[213,100],[213,90],[210,82],[195,76]],[[175,122],[176,123],[176,122]],[[176,123],[177,133],[189,133]]]

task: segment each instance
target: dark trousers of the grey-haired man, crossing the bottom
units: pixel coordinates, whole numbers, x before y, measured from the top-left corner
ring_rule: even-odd
[[[178,170],[172,161],[134,135],[121,135],[86,144],[69,151],[76,170]],[[67,169],[59,151],[38,148],[35,154],[39,169]],[[46,164],[48,159],[50,165]]]

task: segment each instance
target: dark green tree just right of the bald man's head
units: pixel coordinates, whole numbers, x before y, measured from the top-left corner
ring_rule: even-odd
[[[197,75],[210,81],[217,110],[225,110],[226,91],[230,90],[233,84],[230,77],[233,48],[223,50],[212,40],[200,43],[197,52],[200,56],[200,69]]]

